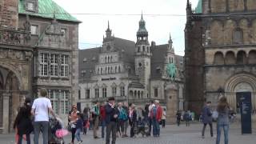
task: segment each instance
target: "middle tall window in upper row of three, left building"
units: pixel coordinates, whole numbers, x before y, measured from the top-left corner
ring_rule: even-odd
[[[50,76],[58,77],[58,54],[50,54]]]

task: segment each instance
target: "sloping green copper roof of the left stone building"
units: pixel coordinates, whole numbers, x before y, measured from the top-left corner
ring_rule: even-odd
[[[55,18],[71,22],[80,22],[77,18],[68,14],[61,6],[58,6],[53,0],[38,0],[38,13],[26,11],[25,0],[18,0],[18,13],[30,14],[42,18]]]

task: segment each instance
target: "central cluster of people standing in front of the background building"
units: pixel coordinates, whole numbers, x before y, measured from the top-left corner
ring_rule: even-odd
[[[111,97],[107,102],[94,102],[94,106],[84,108],[82,113],[77,110],[76,105],[72,106],[68,127],[72,135],[71,144],[74,143],[74,138],[77,138],[78,143],[82,143],[80,133],[86,134],[88,129],[93,130],[95,139],[106,137],[106,144],[110,143],[110,134],[112,134],[112,144],[114,144],[117,137],[129,137],[129,126],[130,138],[135,138],[138,134],[142,134],[143,137],[150,136],[151,131],[154,137],[159,137],[160,124],[162,128],[166,125],[166,109],[162,109],[158,100],[142,108],[135,106],[134,103],[118,102],[116,104]],[[99,126],[102,129],[100,136]]]

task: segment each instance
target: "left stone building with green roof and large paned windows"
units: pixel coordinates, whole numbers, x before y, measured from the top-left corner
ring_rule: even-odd
[[[78,98],[79,23],[52,0],[0,1],[0,133],[40,88],[66,118]]]

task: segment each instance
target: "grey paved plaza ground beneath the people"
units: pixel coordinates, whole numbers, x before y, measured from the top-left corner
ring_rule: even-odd
[[[216,126],[214,126],[216,127]],[[202,125],[191,124],[190,127],[182,126],[166,126],[161,130],[160,138],[118,138],[117,144],[214,144],[216,130],[214,129],[214,138],[210,138],[209,127],[206,129],[206,138],[201,138]],[[31,136],[33,138],[33,135]],[[32,140],[31,138],[31,140]],[[71,136],[65,138],[66,143],[70,142]],[[223,138],[223,137],[222,137]],[[105,139],[94,139],[92,131],[90,130],[87,135],[82,135],[84,144],[103,144]],[[33,142],[32,142],[33,143]],[[222,140],[223,143],[223,140]],[[230,126],[230,144],[255,144],[256,143],[256,130],[253,134],[242,135],[241,129],[238,124]],[[0,144],[14,144],[14,134],[0,134]]]

